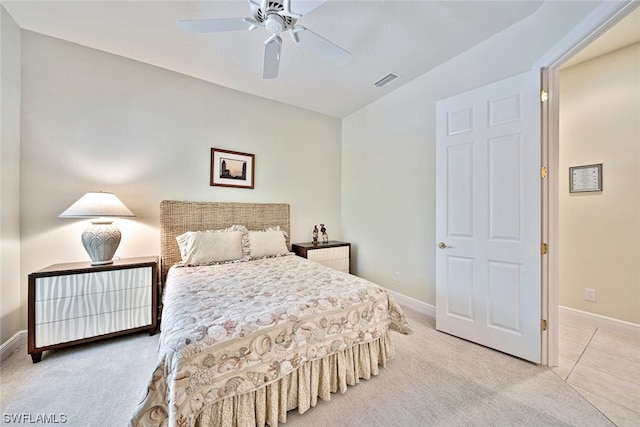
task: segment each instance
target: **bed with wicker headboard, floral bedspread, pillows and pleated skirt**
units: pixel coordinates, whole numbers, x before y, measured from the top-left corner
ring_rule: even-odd
[[[276,427],[395,356],[393,297],[293,255],[289,227],[287,204],[161,203],[158,361],[131,426]]]

